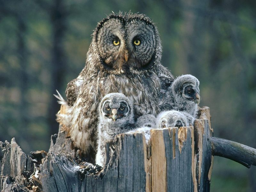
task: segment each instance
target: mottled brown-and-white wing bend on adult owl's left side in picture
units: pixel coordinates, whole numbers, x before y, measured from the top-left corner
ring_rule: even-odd
[[[78,76],[77,78],[73,79],[68,83],[66,88],[66,96],[67,96],[67,103],[69,106],[73,106],[83,83],[84,83],[84,78],[80,76]]]

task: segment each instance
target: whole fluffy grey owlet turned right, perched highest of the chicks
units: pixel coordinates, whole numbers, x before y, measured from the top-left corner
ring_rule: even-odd
[[[172,109],[185,111],[196,118],[197,104],[200,102],[198,79],[192,75],[177,77],[160,102],[162,111]]]

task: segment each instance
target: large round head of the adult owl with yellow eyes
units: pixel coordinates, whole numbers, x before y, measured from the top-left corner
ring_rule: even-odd
[[[161,60],[162,47],[156,26],[142,14],[111,14],[93,33],[100,67],[110,74],[148,71]]]

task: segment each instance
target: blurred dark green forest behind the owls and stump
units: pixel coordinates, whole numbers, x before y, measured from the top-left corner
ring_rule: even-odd
[[[67,83],[84,67],[94,28],[111,11],[154,20],[162,63],[200,81],[214,136],[256,148],[256,1],[0,0],[0,140],[48,151]],[[256,191],[256,168],[214,158],[211,191]]]

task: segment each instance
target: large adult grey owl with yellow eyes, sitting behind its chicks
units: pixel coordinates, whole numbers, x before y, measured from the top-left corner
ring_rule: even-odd
[[[145,15],[111,14],[98,23],[85,67],[66,89],[72,108],[65,122],[75,147],[95,151],[97,109],[108,93],[129,97],[135,119],[160,112],[158,74],[170,73],[160,63],[161,54],[158,30]]]

